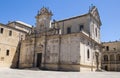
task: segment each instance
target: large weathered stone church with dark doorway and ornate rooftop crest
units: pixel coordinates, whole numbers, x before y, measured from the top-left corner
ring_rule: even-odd
[[[19,68],[99,70],[101,20],[97,8],[53,22],[52,15],[45,7],[36,15],[36,26],[21,42]]]

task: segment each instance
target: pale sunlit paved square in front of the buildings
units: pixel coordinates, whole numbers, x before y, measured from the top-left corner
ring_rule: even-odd
[[[0,68],[0,78],[120,78],[120,72],[61,72]]]

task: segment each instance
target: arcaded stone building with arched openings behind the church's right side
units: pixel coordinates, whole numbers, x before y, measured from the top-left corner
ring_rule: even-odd
[[[102,69],[120,71],[120,41],[105,42],[102,51]]]

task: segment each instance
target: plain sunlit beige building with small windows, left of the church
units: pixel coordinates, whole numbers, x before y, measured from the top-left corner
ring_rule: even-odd
[[[0,23],[0,67],[18,66],[20,41],[25,39],[29,31],[31,27],[20,21],[6,25]]]

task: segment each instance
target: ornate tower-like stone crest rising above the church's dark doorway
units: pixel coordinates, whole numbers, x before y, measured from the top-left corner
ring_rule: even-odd
[[[52,12],[43,7],[36,16],[36,30],[37,32],[44,32],[49,29]]]

